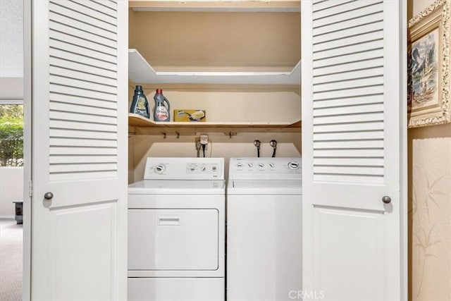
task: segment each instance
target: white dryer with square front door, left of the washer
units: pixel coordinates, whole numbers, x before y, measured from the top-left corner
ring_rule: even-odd
[[[223,158],[147,158],[128,188],[128,300],[225,299]]]

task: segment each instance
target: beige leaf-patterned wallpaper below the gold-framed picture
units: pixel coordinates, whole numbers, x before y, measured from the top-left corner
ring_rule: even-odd
[[[411,300],[451,300],[451,137],[412,143]]]

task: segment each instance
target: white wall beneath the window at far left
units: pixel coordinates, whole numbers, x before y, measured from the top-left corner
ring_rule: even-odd
[[[13,201],[23,199],[23,167],[0,167],[0,218],[15,215]]]

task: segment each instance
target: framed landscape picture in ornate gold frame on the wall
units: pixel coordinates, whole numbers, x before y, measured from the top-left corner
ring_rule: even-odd
[[[409,21],[409,128],[449,123],[450,1],[438,0]]]

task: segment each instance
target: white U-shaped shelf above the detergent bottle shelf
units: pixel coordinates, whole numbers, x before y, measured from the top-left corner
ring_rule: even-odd
[[[128,49],[128,78],[140,84],[300,85],[301,61],[290,72],[155,71],[137,49]]]

